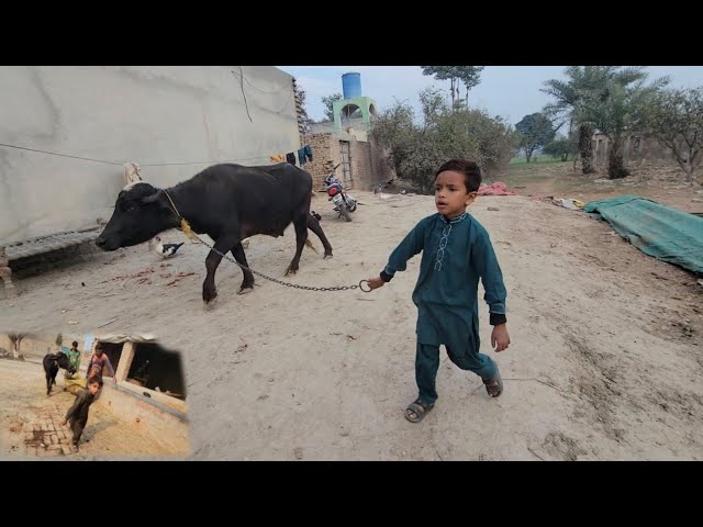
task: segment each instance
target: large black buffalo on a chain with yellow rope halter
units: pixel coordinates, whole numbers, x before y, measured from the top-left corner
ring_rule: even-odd
[[[141,244],[178,227],[180,214],[196,233],[210,236],[217,250],[222,254],[231,250],[237,262],[248,267],[242,239],[256,234],[282,236],[292,222],[297,249],[286,274],[294,273],[309,228],[322,242],[324,257],[332,257],[332,246],[320,222],[310,214],[311,200],[312,176],[289,162],[264,167],[214,165],[167,189],[143,181],[126,186],[96,244],[103,250]],[[202,284],[205,303],[217,295],[215,271],[221,260],[213,250],[205,259],[208,274]],[[243,269],[243,272],[241,293],[254,288],[252,271]]]

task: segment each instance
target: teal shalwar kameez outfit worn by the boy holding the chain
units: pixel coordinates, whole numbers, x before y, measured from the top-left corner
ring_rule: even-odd
[[[462,370],[486,381],[495,377],[495,363],[479,352],[479,279],[493,325],[505,321],[506,291],[489,234],[468,213],[451,220],[438,213],[421,220],[391,253],[381,278],[389,281],[397,271],[404,271],[408,260],[420,251],[420,277],[412,295],[417,306],[415,380],[417,399],[427,405],[437,400],[440,345]]]

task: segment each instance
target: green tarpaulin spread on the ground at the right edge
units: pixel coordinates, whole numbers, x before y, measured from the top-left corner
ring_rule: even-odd
[[[643,253],[696,273],[703,273],[703,217],[637,195],[591,201],[598,212]]]

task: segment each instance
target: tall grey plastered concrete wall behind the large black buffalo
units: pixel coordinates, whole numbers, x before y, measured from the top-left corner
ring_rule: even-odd
[[[292,77],[242,68],[244,81],[238,66],[1,67],[0,143],[113,164],[0,146],[0,245],[109,218],[124,162],[170,186],[298,150]]]

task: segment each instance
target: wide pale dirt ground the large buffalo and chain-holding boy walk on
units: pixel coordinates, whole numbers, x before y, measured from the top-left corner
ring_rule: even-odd
[[[313,200],[334,258],[322,259],[311,234],[320,254],[306,248],[300,271],[283,278],[294,251],[289,227],[281,238],[253,237],[249,266],[301,285],[357,284],[435,212],[432,197],[354,194],[362,204],[352,223],[337,220],[325,198]],[[187,244],[161,267],[143,244],[18,279],[21,296],[0,300],[0,327],[108,324],[155,333],[179,349],[192,459],[703,459],[696,278],[641,254],[605,222],[536,198],[480,198],[470,212],[492,237],[509,291],[513,344],[488,351],[505,391],[490,399],[443,350],[439,400],[420,424],[403,418],[416,395],[411,292],[420,256],[371,293],[257,277],[252,293],[237,295],[242,272],[223,261],[217,301],[204,310],[208,249]],[[176,231],[163,238],[183,239]],[[484,351],[490,330],[482,304]]]

